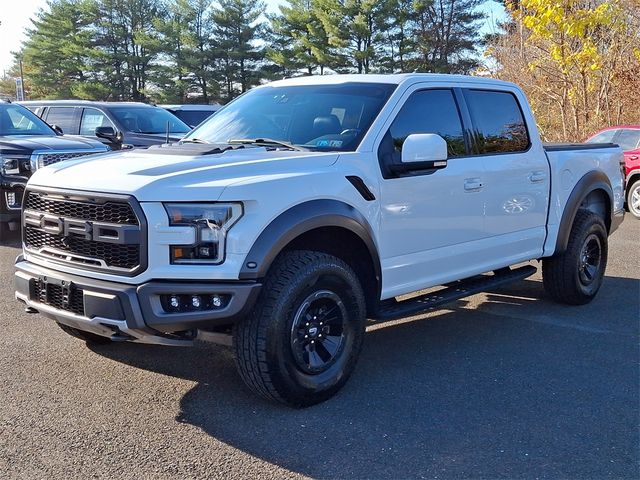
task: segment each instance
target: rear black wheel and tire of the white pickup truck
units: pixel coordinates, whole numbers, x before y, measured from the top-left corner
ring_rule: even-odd
[[[559,303],[589,303],[602,285],[607,254],[607,229],[602,218],[588,210],[579,210],[567,249],[542,261],[545,290]]]

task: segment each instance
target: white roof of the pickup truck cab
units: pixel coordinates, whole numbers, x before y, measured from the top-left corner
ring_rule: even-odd
[[[303,77],[286,78],[268,83],[272,86],[293,85],[327,85],[338,83],[386,83],[401,84],[405,82],[429,81],[429,82],[464,82],[478,84],[500,84],[513,86],[512,83],[496,80],[490,77],[472,77],[470,75],[451,75],[444,73],[397,73],[389,75],[380,74],[340,74],[340,75],[307,75]]]

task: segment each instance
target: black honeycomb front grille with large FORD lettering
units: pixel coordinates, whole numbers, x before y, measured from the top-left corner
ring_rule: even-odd
[[[25,195],[25,250],[79,268],[138,273],[146,263],[143,225],[126,199],[37,190]],[[96,235],[96,229],[116,232],[116,241]],[[127,232],[118,237],[118,229]]]

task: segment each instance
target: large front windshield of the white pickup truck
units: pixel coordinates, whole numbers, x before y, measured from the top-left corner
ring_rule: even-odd
[[[371,83],[256,88],[185,140],[270,139],[313,150],[352,151],[395,88]]]

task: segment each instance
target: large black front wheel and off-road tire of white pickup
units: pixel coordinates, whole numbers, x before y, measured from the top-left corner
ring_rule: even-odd
[[[329,307],[334,302],[336,307],[320,306],[318,317],[311,317],[313,313],[309,312],[318,312],[316,302],[320,301],[329,302]],[[320,322],[316,318],[322,318],[328,310],[340,312],[340,348],[335,348],[333,341],[331,344],[335,356],[327,355],[324,347],[316,351],[320,349],[317,343],[312,347],[303,343],[310,340],[298,340],[305,328],[313,328],[305,327],[309,323],[300,323],[305,322],[301,319]],[[252,312],[234,326],[233,347],[240,376],[258,395],[292,407],[308,407],[327,400],[345,384],[355,367],[364,337],[365,312],[362,287],[345,262],[313,251],[283,253],[270,268]],[[336,322],[328,316],[324,318],[327,325]],[[327,325],[320,328],[327,329]],[[330,328],[320,341],[338,338],[334,336],[335,325]],[[317,332],[323,333],[316,329],[313,334]],[[314,363],[313,353],[318,354],[314,356],[316,361],[321,353],[330,357],[324,366],[317,367],[325,370],[310,370],[316,367],[305,364],[302,345],[309,348],[309,363]]]

